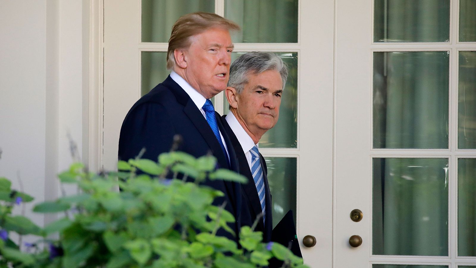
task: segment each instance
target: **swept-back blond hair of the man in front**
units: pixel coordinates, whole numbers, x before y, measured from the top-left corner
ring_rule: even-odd
[[[225,19],[215,13],[194,12],[183,15],[172,26],[172,33],[167,49],[167,69],[175,66],[174,51],[186,49],[191,45],[191,37],[211,28],[223,28],[228,31],[238,31],[240,27],[235,22]]]

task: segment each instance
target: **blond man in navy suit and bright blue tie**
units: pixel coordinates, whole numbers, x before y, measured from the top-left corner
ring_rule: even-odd
[[[232,30],[239,30],[239,26],[206,12],[190,13],[175,22],[167,51],[167,68],[172,71],[129,110],[120,132],[119,159],[135,158],[145,148],[142,158],[156,161],[160,153],[171,149],[174,135],[179,134],[182,141],[178,150],[194,157],[211,152],[219,168],[238,171],[233,146],[210,101],[227,87]],[[225,194],[214,204],[225,204],[235,216],[237,221],[230,228],[238,235],[239,185],[221,180],[207,180],[205,184]],[[223,229],[217,234],[237,240]]]

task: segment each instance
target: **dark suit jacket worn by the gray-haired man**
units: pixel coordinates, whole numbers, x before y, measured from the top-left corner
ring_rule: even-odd
[[[228,137],[231,140],[231,144],[235,150],[235,154],[238,158],[239,172],[241,175],[248,178],[247,184],[241,184],[241,193],[243,196],[243,206],[241,210],[241,225],[252,226],[258,215],[261,213],[261,203],[259,202],[258,191],[256,190],[255,181],[249,169],[248,161],[243,152],[243,148],[239,143],[235,133],[228,125],[225,115],[221,117],[221,123],[227,131]],[[266,161],[261,154],[259,154],[261,160],[261,167],[263,168],[263,179],[265,185],[265,210],[266,210],[266,222],[263,224],[263,219],[258,220],[256,231],[263,232],[263,242],[271,241],[271,232],[273,230],[273,216],[272,216],[272,199],[269,191],[268,184],[268,168],[266,167]]]

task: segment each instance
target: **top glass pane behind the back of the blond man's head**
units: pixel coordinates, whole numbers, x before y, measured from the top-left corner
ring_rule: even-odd
[[[142,0],[142,42],[169,42],[175,21],[196,11],[215,13],[215,0]]]

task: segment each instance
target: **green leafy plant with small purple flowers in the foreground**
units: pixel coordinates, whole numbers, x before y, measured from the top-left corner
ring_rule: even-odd
[[[196,159],[178,151],[161,154],[158,162],[119,161],[118,172],[101,174],[74,163],[59,179],[77,185],[79,193],[33,209],[63,215],[44,228],[11,215],[15,204],[32,198],[0,178],[0,267],[254,268],[272,257],[283,267],[307,267],[288,248],[262,243],[262,233],[252,227],[241,228],[239,246],[216,235],[219,228],[232,232],[227,224],[235,218],[224,204],[212,205],[223,193],[200,182],[246,178],[215,167],[212,156]],[[12,232],[39,239],[26,245],[20,239],[20,250]]]

